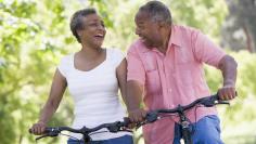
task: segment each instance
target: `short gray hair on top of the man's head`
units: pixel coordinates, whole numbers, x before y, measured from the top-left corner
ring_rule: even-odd
[[[139,9],[139,12],[146,12],[154,22],[166,22],[171,25],[169,9],[161,1],[150,1]]]

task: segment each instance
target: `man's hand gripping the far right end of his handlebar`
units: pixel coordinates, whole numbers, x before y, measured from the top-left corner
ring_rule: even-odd
[[[218,95],[220,100],[228,101],[236,96],[234,84],[225,84],[221,89],[218,90]]]

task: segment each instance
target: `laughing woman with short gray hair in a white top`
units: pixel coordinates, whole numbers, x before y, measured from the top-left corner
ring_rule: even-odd
[[[91,128],[104,122],[123,120],[126,115],[118,100],[118,89],[125,101],[126,60],[116,49],[103,49],[106,34],[104,23],[94,9],[77,11],[71,29],[81,49],[62,58],[55,70],[49,99],[39,120],[30,130],[42,134],[68,87],[75,102],[73,128]],[[82,135],[71,133],[73,138]],[[99,132],[91,135],[92,144],[132,144],[128,132]],[[69,139],[67,144],[78,144]]]

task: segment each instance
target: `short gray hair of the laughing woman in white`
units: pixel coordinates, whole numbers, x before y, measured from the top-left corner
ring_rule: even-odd
[[[73,14],[72,19],[71,19],[71,24],[69,24],[71,30],[73,35],[76,37],[77,41],[80,43],[81,43],[81,40],[77,34],[77,30],[84,29],[85,24],[82,22],[82,17],[86,17],[89,14],[97,14],[95,9],[89,8],[89,9],[79,10]]]

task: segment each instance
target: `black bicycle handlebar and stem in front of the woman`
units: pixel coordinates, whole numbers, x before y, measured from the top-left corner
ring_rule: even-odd
[[[130,120],[128,118],[124,118],[124,121],[115,121],[112,123],[103,123],[100,125],[98,127],[94,128],[87,128],[87,127],[82,127],[81,129],[73,129],[71,127],[47,127],[44,134],[41,136],[36,138],[36,141],[43,139],[43,138],[54,138],[54,136],[59,136],[62,131],[68,131],[68,132],[74,132],[74,133],[80,133],[82,134],[82,139],[78,140],[79,143],[81,144],[89,144],[89,142],[91,142],[91,138],[90,135],[99,133],[97,132],[98,130],[101,130],[103,128],[106,128],[110,132],[116,133],[119,131],[127,131],[127,132],[131,132],[132,131],[130,129],[128,129],[128,125],[130,123]],[[103,131],[105,132],[105,131]],[[29,133],[31,133],[31,131],[29,130]],[[66,134],[63,134],[66,135]],[[69,135],[67,135],[69,136]],[[74,138],[75,139],[75,138]]]

